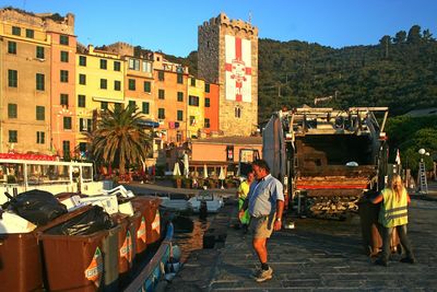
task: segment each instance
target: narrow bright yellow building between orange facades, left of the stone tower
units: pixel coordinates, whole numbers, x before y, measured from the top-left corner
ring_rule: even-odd
[[[205,82],[190,77],[188,79],[187,137],[200,138],[204,128]]]

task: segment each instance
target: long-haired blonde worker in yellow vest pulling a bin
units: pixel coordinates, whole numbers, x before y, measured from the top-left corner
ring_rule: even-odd
[[[406,224],[409,223],[408,205],[410,196],[403,186],[402,178],[399,175],[393,175],[389,188],[385,188],[381,192],[371,200],[373,203],[381,202],[379,210],[378,222],[382,225],[382,255],[375,264],[388,266],[390,256],[390,240],[395,229],[399,234],[402,247],[405,250],[401,262],[415,264],[416,259],[413,255],[411,243],[406,236]]]

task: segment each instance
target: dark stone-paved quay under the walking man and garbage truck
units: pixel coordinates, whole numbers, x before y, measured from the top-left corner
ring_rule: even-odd
[[[340,221],[297,219],[294,230],[268,244],[273,279],[257,283],[250,235],[227,229],[222,248],[192,253],[166,291],[437,291],[437,201],[413,200],[409,235],[418,260],[389,267],[364,254],[359,218]]]

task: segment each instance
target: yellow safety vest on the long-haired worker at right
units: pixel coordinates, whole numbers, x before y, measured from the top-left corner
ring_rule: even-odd
[[[385,227],[394,227],[409,223],[408,195],[405,188],[402,190],[401,199],[398,201],[395,192],[391,188],[381,191],[383,202],[379,210],[379,223]]]

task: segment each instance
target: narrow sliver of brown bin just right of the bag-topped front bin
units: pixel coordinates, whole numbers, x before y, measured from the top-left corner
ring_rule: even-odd
[[[126,285],[132,278],[132,266],[135,258],[135,226],[126,214],[116,213],[111,218],[120,227],[118,233],[118,273],[120,284]]]

